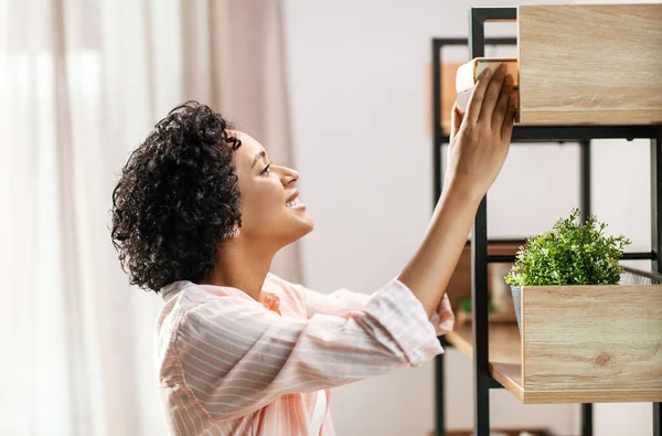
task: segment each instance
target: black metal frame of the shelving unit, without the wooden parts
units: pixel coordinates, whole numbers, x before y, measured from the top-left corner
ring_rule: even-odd
[[[514,38],[484,38],[488,21],[515,21],[516,8],[471,8],[469,11],[469,39],[433,39],[433,157],[434,157],[434,205],[441,195],[442,161],[441,147],[450,138],[444,135],[441,119],[441,49],[446,45],[469,45],[469,59],[484,56],[485,45],[515,45]],[[575,142],[579,143],[581,219],[591,211],[591,139],[651,139],[651,252],[628,253],[623,259],[650,259],[653,273],[662,273],[659,253],[662,253],[662,126],[515,126],[512,142]],[[471,243],[471,297],[473,340],[473,401],[474,436],[488,436],[490,432],[490,389],[502,387],[489,373],[488,330],[488,264],[513,262],[513,256],[488,255],[487,195],[482,199],[472,227]],[[444,338],[442,344],[448,345]],[[444,355],[436,359],[436,434],[446,435]],[[653,436],[662,436],[662,407],[653,403]],[[581,436],[592,436],[592,404],[581,405]]]

